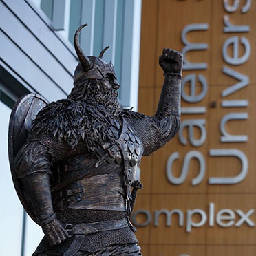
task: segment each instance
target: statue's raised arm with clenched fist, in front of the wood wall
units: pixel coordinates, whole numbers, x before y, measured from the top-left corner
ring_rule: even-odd
[[[182,80],[182,54],[164,49],[159,57],[164,70],[164,84],[154,116],[130,114],[128,122],[142,140],[144,155],[163,147],[180,129],[180,85]]]

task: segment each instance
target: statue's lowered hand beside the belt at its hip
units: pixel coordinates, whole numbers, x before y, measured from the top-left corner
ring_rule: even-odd
[[[65,241],[67,238],[67,231],[65,230],[63,224],[57,219],[43,225],[42,228],[43,233],[45,233],[51,246],[61,244],[61,242]]]

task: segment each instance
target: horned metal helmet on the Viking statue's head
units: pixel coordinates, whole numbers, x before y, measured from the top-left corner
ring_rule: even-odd
[[[79,59],[79,63],[74,71],[74,86],[76,87],[78,83],[88,79],[105,80],[109,74],[112,76],[113,83],[115,85],[119,85],[116,80],[116,73],[114,71],[113,64],[111,61],[107,64],[102,59],[103,54],[109,46],[105,47],[98,57],[86,56],[81,49],[81,46],[79,45],[79,33],[85,26],[87,26],[87,24],[81,25],[74,35],[74,47]]]

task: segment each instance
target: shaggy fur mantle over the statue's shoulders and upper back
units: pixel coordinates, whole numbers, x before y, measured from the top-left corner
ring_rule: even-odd
[[[109,111],[103,105],[81,100],[58,100],[45,106],[33,122],[32,136],[47,134],[57,140],[64,140],[74,148],[79,142],[87,143],[92,149],[104,140],[114,138],[110,127],[115,125]],[[117,125],[117,124],[116,124]]]

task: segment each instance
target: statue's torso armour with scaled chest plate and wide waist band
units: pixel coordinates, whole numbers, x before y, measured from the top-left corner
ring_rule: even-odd
[[[134,182],[136,168],[142,157],[142,143],[125,120],[120,123],[119,129],[111,127],[111,130],[116,134],[116,140],[107,142],[98,158],[92,158],[87,153],[56,164],[56,186],[69,183],[54,193],[57,210],[127,211],[125,183],[129,183],[127,186],[130,189]]]

